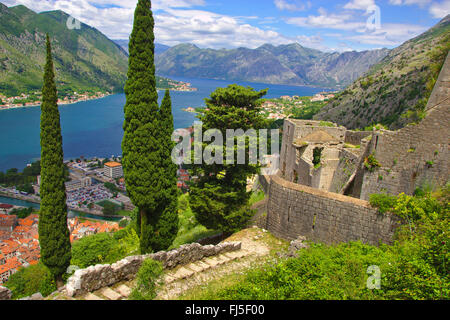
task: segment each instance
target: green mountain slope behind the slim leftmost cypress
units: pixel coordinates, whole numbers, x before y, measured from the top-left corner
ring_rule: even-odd
[[[123,92],[128,48],[84,23],[69,28],[69,18],[60,10],[36,13],[23,5],[8,8],[0,3],[0,93],[16,96],[41,90],[46,33],[52,41],[60,95]],[[168,79],[156,81],[159,88],[169,86]]]

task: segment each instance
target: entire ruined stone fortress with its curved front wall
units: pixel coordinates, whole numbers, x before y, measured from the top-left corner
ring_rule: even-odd
[[[280,170],[259,179],[267,196],[267,217],[260,226],[286,239],[391,243],[401,221],[380,214],[367,200],[373,193],[412,195],[418,187],[449,182],[449,99],[450,55],[419,124],[357,132],[285,120]],[[318,167],[312,162],[315,148],[323,148]],[[369,155],[380,163],[373,172],[364,166]]]

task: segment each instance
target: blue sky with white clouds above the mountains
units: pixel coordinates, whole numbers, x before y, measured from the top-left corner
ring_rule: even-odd
[[[128,38],[137,0],[0,0],[60,9],[111,39]],[[154,0],[156,41],[202,48],[298,42],[322,51],[393,48],[450,13],[450,0]]]

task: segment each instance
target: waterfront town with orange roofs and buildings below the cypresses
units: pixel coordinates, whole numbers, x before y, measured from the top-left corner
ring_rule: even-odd
[[[86,219],[83,213],[93,216],[111,217],[129,220],[126,214],[133,210],[130,199],[126,196],[123,169],[120,157],[110,159],[94,158],[66,161],[70,181],[66,182],[67,206],[69,210],[81,212],[80,217],[70,217],[67,221],[71,242],[83,237],[102,232],[114,232],[120,223]],[[186,190],[191,179],[187,170],[178,170],[178,187]],[[35,195],[27,194],[15,188],[0,187],[3,196],[39,202],[40,176],[33,184]],[[106,212],[106,203],[113,205],[115,211]],[[39,215],[31,213],[25,218],[15,213],[26,208],[0,203],[0,284],[21,267],[37,264],[40,259],[38,236]],[[70,215],[69,215],[70,216]]]

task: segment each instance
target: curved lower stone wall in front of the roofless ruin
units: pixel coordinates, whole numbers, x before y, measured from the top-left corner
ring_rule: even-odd
[[[293,240],[339,243],[361,240],[391,243],[400,220],[380,214],[367,201],[313,189],[272,176],[267,204],[267,229]]]

